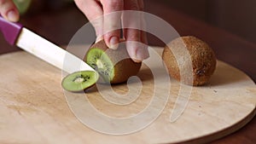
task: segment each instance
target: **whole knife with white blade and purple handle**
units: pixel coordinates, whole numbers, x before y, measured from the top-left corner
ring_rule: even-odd
[[[20,23],[3,19],[1,15],[0,29],[9,44],[16,45],[67,73],[85,70],[95,71],[79,57],[61,49],[54,43],[50,43],[44,37],[26,29]]]

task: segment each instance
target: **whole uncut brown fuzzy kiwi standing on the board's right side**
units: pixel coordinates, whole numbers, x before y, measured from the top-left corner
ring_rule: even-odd
[[[213,50],[207,43],[193,36],[177,37],[165,47],[162,59],[166,64],[171,77],[180,81],[181,77],[179,67],[183,67],[181,68],[181,71],[188,71],[188,69],[185,70],[186,68],[184,67],[189,66],[189,60],[184,60],[185,62],[183,62],[183,66],[178,66],[176,57],[172,54],[172,51],[175,51],[175,55],[177,57],[182,56],[184,52],[183,49],[179,50],[181,47],[188,49],[189,55],[191,55],[193,67],[193,84],[191,84],[192,78],[189,78],[189,76],[191,76],[191,72],[185,72],[187,74],[184,75],[185,78],[183,78],[182,83],[194,86],[207,84],[215,71],[217,63],[216,57]]]

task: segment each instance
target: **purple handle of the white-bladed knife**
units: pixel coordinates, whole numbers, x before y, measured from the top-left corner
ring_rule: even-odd
[[[3,33],[3,37],[9,44],[15,45],[16,39],[19,36],[22,27],[23,26],[19,23],[5,20],[0,15],[0,30]]]

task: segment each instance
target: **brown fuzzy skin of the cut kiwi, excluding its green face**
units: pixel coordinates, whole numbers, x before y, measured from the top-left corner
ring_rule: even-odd
[[[131,76],[137,75],[137,72],[139,72],[142,66],[142,62],[137,63],[131,60],[131,57],[128,55],[126,50],[125,43],[122,42],[124,41],[119,43],[118,49],[109,49],[104,40],[90,46],[90,49],[97,48],[105,51],[105,54],[107,54],[109,59],[113,62],[114,76],[110,81],[110,84],[120,84],[126,82]],[[88,49],[88,51],[90,49]],[[84,57],[84,61],[85,60],[86,55]]]

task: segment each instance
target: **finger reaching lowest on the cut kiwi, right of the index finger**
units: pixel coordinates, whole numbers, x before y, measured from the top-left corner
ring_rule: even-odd
[[[137,0],[125,1],[125,10],[140,10],[140,6]],[[123,26],[125,27],[124,35],[126,43],[126,49],[131,56],[131,59],[135,62],[141,62],[148,58],[148,49],[143,44],[147,42],[145,33],[142,30],[142,14],[138,11],[129,11],[123,14]]]

